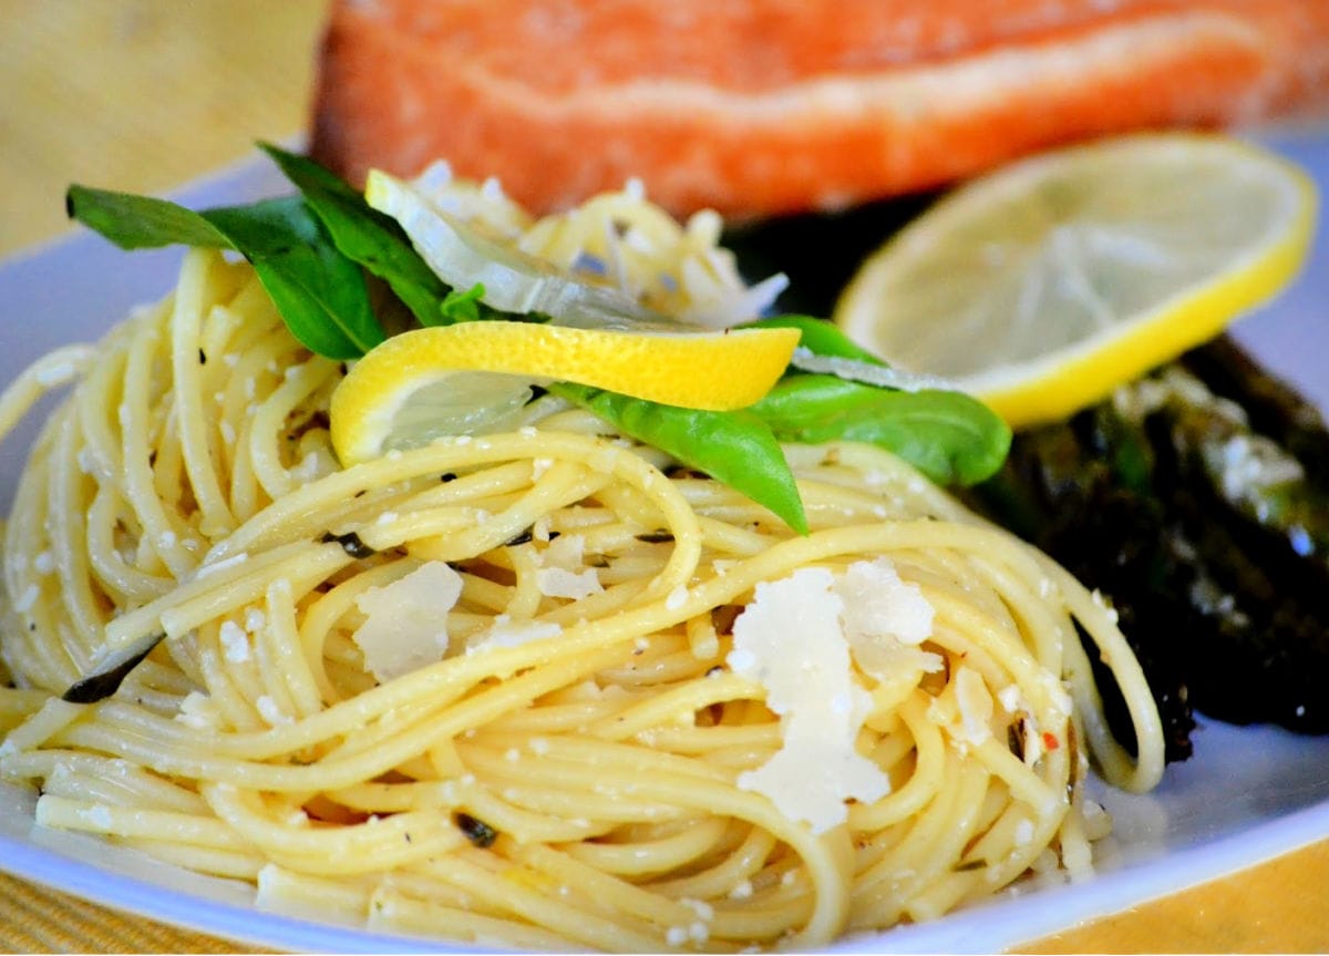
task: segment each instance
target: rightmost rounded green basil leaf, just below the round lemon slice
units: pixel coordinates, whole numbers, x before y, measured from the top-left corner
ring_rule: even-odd
[[[964,392],[901,392],[835,375],[791,375],[750,411],[780,441],[865,441],[942,485],[990,477],[1010,449],[1007,424]]]

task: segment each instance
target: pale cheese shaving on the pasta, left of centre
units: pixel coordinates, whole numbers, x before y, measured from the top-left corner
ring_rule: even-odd
[[[355,604],[365,621],[351,640],[365,669],[381,683],[443,659],[448,612],[460,597],[461,576],[443,561],[360,594]]]

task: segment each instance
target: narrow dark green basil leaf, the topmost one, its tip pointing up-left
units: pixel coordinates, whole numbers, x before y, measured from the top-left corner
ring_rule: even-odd
[[[447,324],[439,306],[448,286],[411,245],[396,219],[384,215],[340,177],[312,160],[260,142],[323,222],[338,250],[391,286],[423,326]]]

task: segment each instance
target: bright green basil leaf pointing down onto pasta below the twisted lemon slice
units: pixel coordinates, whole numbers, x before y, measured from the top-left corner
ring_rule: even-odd
[[[808,533],[789,463],[771,429],[747,410],[679,408],[571,382],[556,382],[549,391],[747,495],[800,535]]]

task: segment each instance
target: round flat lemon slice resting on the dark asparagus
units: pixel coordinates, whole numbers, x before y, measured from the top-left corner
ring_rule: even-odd
[[[860,267],[849,338],[1011,425],[1066,418],[1282,289],[1316,219],[1290,162],[1219,136],[1123,137],[974,179]]]

